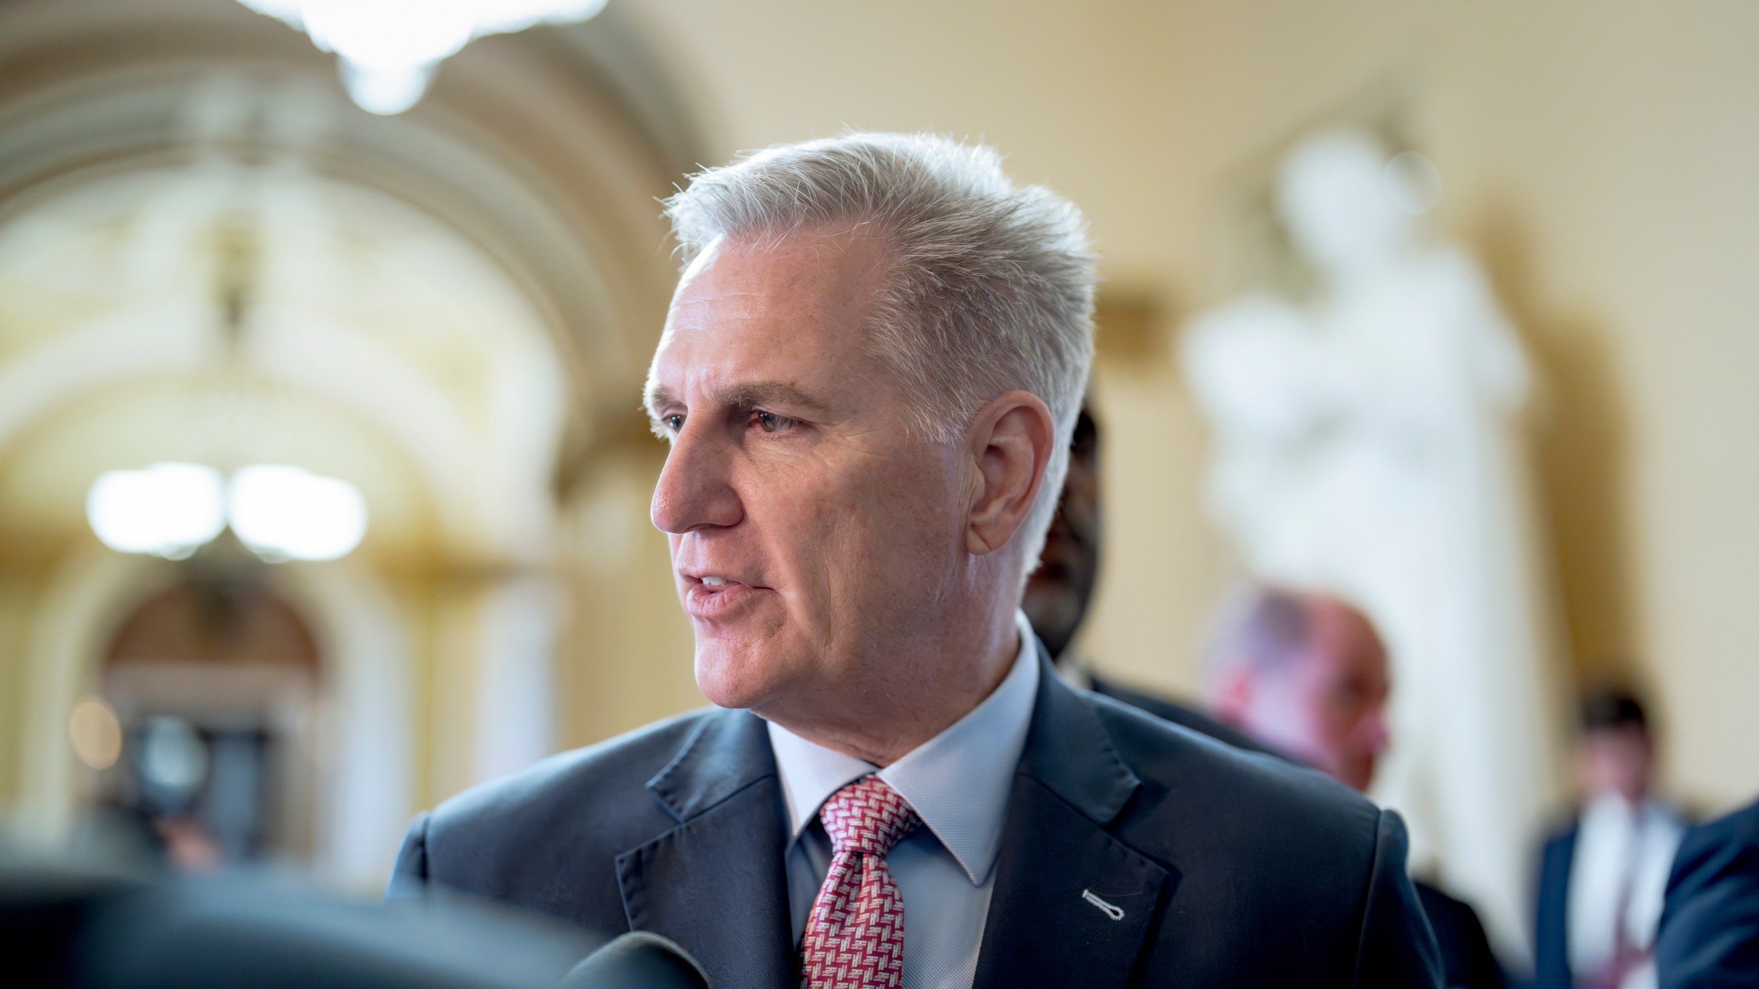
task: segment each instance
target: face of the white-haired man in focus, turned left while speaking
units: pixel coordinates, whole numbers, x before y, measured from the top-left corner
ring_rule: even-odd
[[[670,435],[670,533],[697,685],[760,713],[885,692],[916,670],[962,565],[955,445],[913,438],[865,348],[881,248],[843,234],[721,243],[686,273],[649,373]]]

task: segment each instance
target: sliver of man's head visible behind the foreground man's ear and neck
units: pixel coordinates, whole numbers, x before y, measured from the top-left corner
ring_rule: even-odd
[[[1099,435],[1082,408],[1069,443],[1069,472],[1038,570],[1025,582],[1025,618],[1052,656],[1062,655],[1087,614],[1099,574]]]

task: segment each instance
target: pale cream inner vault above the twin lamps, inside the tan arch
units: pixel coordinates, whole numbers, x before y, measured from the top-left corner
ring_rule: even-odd
[[[77,183],[0,223],[0,451],[28,479],[7,517],[65,516],[106,468],[283,461],[366,487],[387,535],[540,554],[552,343],[456,231],[297,162]]]

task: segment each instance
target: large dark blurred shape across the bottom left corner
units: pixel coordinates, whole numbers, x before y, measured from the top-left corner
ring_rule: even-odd
[[[554,989],[603,943],[450,896],[380,906],[262,876],[148,882],[0,855],[5,989]],[[566,984],[707,985],[612,961],[605,980]]]

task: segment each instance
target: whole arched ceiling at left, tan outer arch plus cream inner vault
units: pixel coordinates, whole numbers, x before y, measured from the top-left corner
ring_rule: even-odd
[[[83,530],[97,470],[278,459],[366,491],[366,553],[542,554],[637,428],[691,160],[602,21],[375,118],[232,0],[0,0],[0,531]]]

